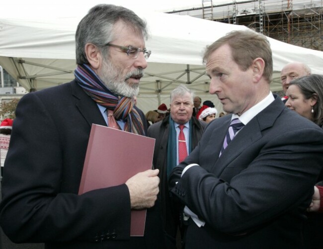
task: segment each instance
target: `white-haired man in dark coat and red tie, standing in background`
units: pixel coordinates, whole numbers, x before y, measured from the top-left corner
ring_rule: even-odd
[[[192,116],[193,93],[185,85],[179,85],[170,94],[170,115],[151,125],[148,136],[155,138],[154,168],[160,170],[161,216],[166,235],[167,248],[175,248],[175,237],[179,213],[169,200],[168,177],[171,170],[180,163],[180,125],[184,125],[186,155],[200,141],[206,123]],[[186,142],[187,141],[187,142]]]

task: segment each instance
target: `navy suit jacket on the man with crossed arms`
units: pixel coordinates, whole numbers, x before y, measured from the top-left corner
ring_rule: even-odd
[[[280,98],[219,153],[231,115],[214,120],[175,167],[172,195],[206,225],[188,225],[186,248],[302,248],[302,228],[323,165],[323,131]],[[182,177],[182,169],[192,163]],[[175,184],[175,182],[177,182]]]

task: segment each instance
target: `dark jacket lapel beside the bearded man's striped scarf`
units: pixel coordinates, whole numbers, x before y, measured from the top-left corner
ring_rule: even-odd
[[[92,124],[106,126],[97,104],[84,92],[76,81],[72,82],[72,95],[74,96],[76,106],[89,126]]]

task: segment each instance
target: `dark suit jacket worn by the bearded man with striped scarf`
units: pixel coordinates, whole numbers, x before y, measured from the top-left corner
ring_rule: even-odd
[[[0,225],[13,242],[45,242],[46,248],[162,248],[156,206],[148,211],[145,237],[130,239],[126,184],[78,195],[92,123],[106,125],[75,81],[20,100],[3,172]]]

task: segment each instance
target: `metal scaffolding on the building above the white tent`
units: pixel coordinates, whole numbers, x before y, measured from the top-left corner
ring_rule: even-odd
[[[211,1],[211,6],[206,2],[202,0],[201,8],[168,13],[212,16],[214,21],[245,25],[276,40],[323,51],[323,0],[228,0]]]

